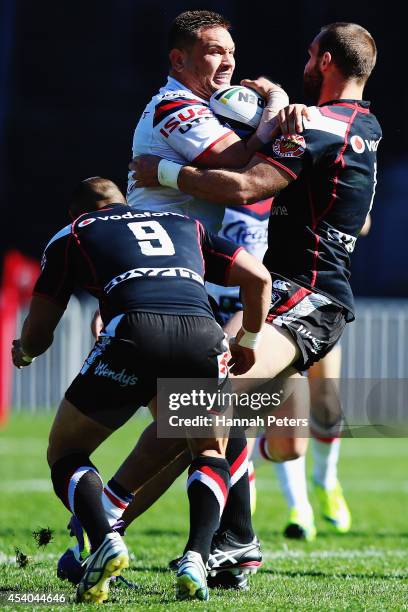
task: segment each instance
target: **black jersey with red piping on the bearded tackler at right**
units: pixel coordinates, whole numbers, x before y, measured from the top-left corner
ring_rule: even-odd
[[[369,102],[311,107],[304,131],[258,154],[292,178],[274,201],[264,264],[323,293],[354,319],[350,254],[373,203],[381,128]]]

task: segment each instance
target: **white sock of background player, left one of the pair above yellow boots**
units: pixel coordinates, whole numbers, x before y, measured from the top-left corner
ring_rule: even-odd
[[[276,463],[275,467],[289,508],[296,508],[302,514],[311,514],[312,507],[307,495],[305,457]]]

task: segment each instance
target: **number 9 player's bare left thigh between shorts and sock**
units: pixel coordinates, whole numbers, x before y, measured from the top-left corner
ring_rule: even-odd
[[[111,433],[111,429],[90,419],[64,398],[49,435],[48,463],[52,465],[72,451],[91,454]]]

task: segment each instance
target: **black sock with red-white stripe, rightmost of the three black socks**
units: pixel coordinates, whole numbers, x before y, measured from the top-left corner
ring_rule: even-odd
[[[235,428],[232,433],[234,437],[228,440],[226,452],[231,474],[230,490],[219,531],[231,531],[242,542],[250,542],[255,534],[251,519],[247,441],[242,428]]]

